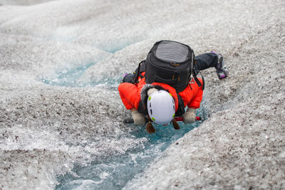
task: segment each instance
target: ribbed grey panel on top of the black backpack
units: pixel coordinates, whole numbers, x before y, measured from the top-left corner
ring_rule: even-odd
[[[156,56],[165,61],[182,62],[187,59],[188,53],[188,48],[181,43],[162,41],[157,46]]]

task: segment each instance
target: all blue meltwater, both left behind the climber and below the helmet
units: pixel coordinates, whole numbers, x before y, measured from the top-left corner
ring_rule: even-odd
[[[76,80],[93,64],[95,63],[66,69],[57,72],[55,78],[42,77],[41,81],[48,85],[84,87],[82,84],[76,83]],[[92,86],[95,85],[105,85],[105,88],[114,90],[114,86],[118,87],[118,81],[92,84]],[[204,116],[203,113],[204,108],[197,110],[197,115]],[[175,130],[172,125],[165,127],[154,125],[155,134],[148,134],[145,127],[126,124],[127,127],[133,127],[134,130],[120,134],[118,137],[110,136],[110,141],[115,142],[116,139],[142,139],[140,144],[136,144],[134,148],[122,154],[95,156],[93,161],[88,164],[74,164],[71,173],[58,176],[56,189],[122,189],[128,181],[133,179],[136,174],[140,174],[170,144],[183,137],[185,133],[193,128],[198,127],[200,123],[197,121],[192,125],[184,125],[179,122],[180,130]],[[88,141],[90,144],[100,144],[100,138],[89,139]],[[116,144],[113,144],[113,146],[116,146]]]

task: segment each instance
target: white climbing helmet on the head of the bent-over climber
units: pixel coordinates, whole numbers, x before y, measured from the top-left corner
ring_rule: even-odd
[[[167,125],[175,116],[175,102],[170,93],[157,90],[147,98],[147,112],[150,119],[159,125]]]

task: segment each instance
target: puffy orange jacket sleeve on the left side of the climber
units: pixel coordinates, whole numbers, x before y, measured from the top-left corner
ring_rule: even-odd
[[[118,87],[120,98],[127,110],[135,108],[138,110],[140,103],[140,93],[138,87],[132,83],[120,83]]]

